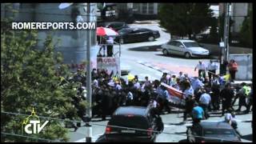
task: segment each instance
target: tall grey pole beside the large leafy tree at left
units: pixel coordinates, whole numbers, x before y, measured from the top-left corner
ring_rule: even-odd
[[[87,10],[87,22],[90,22],[90,3],[87,3],[86,6]],[[91,142],[92,138],[92,127],[90,125],[90,120],[92,117],[92,112],[91,112],[91,67],[90,67],[90,30],[86,31],[86,98],[87,102],[89,103],[89,106],[86,108],[86,116],[87,116],[87,122],[86,122],[86,142]]]

